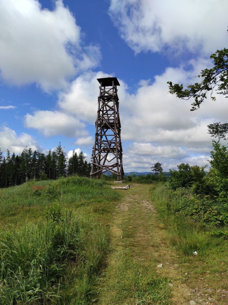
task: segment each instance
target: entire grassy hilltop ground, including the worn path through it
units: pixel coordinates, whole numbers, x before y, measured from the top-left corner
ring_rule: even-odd
[[[227,241],[172,210],[183,194],[111,183],[72,176],[0,189],[0,303],[227,304]]]

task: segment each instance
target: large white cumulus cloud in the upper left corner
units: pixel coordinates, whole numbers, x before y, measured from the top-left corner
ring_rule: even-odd
[[[10,84],[37,83],[45,91],[94,67],[97,46],[80,45],[80,27],[62,0],[52,11],[37,0],[0,0],[0,72]]]

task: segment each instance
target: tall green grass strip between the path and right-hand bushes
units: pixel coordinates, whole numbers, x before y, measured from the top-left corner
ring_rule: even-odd
[[[170,192],[164,184],[151,189],[151,199],[157,206],[165,228],[169,231],[171,244],[180,253],[188,256],[192,256],[194,251],[205,254],[209,247],[213,248],[218,243],[210,234],[213,228],[185,216],[189,208],[186,202],[191,201],[192,196],[191,190],[181,189],[179,192]],[[181,205],[182,210],[186,210],[185,215],[172,209],[178,204]]]

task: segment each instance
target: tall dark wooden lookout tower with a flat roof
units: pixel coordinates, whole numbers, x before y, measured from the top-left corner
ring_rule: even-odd
[[[100,178],[102,172],[116,174],[123,180],[123,150],[120,138],[119,98],[116,77],[98,78],[100,94],[90,178]]]

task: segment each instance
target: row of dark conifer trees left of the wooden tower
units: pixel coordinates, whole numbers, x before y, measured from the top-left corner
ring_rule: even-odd
[[[28,180],[47,180],[66,177],[66,175],[78,174],[89,176],[91,164],[87,163],[83,152],[66,160],[64,148],[59,145],[56,151],[49,150],[46,155],[38,150],[32,151],[27,146],[21,154],[10,154],[7,149],[6,156],[3,156],[0,149],[0,187],[6,188],[13,185],[20,185]]]

